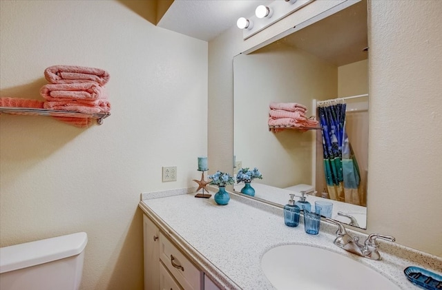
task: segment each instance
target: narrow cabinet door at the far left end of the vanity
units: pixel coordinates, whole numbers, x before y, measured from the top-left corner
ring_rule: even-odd
[[[143,215],[144,290],[160,289],[160,231]]]

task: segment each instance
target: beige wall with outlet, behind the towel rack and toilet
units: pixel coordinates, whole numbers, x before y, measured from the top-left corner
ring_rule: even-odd
[[[0,116],[0,245],[86,231],[81,289],[142,289],[140,193],[193,187],[206,154],[207,43],[155,27],[151,3],[0,1],[1,96],[40,99],[50,65],[111,74],[101,126]]]

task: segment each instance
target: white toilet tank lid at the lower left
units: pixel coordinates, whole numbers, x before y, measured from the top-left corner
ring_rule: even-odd
[[[75,256],[88,242],[85,232],[0,248],[0,273]]]

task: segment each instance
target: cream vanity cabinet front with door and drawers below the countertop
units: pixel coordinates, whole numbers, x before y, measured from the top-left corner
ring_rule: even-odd
[[[146,215],[143,215],[144,289],[219,290]]]

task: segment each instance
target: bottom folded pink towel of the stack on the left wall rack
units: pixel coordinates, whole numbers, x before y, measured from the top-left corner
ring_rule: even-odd
[[[111,112],[111,103],[105,99],[98,99],[96,101],[60,99],[60,101],[45,102],[44,108],[50,110],[80,112],[84,114],[97,114]]]

